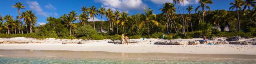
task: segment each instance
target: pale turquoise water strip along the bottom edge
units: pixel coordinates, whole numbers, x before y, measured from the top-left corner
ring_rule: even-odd
[[[104,60],[80,58],[6,58],[0,64],[255,64],[254,61],[202,62],[182,60]]]

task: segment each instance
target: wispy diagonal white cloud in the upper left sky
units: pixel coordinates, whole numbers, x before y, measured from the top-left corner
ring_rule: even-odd
[[[38,15],[48,17],[49,15],[52,14],[52,13],[44,12],[43,9],[40,7],[40,5],[36,1],[29,1],[28,0],[26,3],[29,5],[29,8],[31,10],[36,11],[36,14],[38,14]]]

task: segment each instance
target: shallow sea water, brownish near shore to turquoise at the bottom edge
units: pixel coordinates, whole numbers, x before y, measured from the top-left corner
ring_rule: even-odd
[[[256,64],[256,55],[0,50],[0,64]]]

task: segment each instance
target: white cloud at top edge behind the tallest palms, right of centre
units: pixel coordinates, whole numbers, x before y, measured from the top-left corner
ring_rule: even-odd
[[[173,3],[173,0],[150,0],[154,4],[164,4],[165,2]],[[190,4],[198,4],[198,0],[184,0],[184,6],[190,5]],[[180,3],[182,5],[182,3]]]

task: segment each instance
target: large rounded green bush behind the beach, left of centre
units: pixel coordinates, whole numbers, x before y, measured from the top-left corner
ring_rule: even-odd
[[[98,34],[97,31],[94,28],[92,28],[92,26],[89,26],[89,25],[78,27],[75,33],[77,37],[82,37],[82,36],[90,37],[92,34]]]

